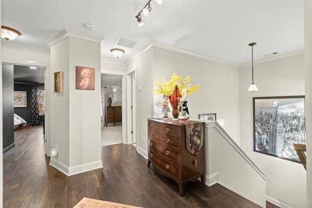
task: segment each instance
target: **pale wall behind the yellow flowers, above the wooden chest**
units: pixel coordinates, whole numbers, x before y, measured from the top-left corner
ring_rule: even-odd
[[[216,113],[217,121],[239,144],[238,68],[159,47],[153,49],[153,89],[161,77],[169,80],[173,73],[182,78],[190,75],[192,86],[200,85],[195,94],[187,97],[190,118],[197,119],[199,113]]]

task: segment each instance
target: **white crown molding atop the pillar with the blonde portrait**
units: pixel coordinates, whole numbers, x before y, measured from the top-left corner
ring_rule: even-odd
[[[64,28],[62,31],[60,31],[59,34],[57,34],[53,38],[48,39],[46,42],[51,47],[66,37],[81,38],[81,39],[86,39],[86,40],[99,42],[99,43],[101,43],[105,39],[105,38],[98,38],[98,37],[91,36],[85,33],[80,33],[74,30],[69,30],[69,29]]]

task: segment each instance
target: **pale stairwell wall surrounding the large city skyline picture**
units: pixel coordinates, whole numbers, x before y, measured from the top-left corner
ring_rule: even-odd
[[[281,207],[306,207],[306,170],[302,164],[253,151],[253,97],[304,95],[303,55],[254,64],[259,91],[248,92],[251,66],[239,69],[240,147],[268,176],[268,200]]]

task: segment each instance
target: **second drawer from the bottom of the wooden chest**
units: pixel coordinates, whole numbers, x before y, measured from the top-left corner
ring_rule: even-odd
[[[164,158],[171,160],[174,163],[180,163],[180,152],[158,144],[154,140],[149,141],[150,149],[158,152]]]

